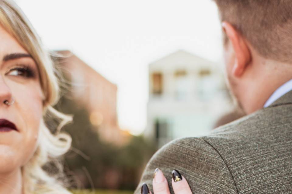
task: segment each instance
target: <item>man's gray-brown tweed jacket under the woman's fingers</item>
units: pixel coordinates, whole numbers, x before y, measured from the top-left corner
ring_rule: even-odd
[[[173,169],[193,193],[292,193],[292,91],[207,136],[169,142],[148,162],[135,194],[143,182],[153,191],[155,168],[172,194]]]

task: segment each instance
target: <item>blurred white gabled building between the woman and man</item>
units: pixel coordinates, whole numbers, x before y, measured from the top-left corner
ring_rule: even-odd
[[[218,64],[180,50],[149,65],[144,135],[158,147],[172,139],[206,135],[233,108]]]

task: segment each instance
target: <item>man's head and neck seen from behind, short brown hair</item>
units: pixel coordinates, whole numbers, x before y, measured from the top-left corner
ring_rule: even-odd
[[[292,79],[292,1],[214,0],[231,92],[247,114]]]

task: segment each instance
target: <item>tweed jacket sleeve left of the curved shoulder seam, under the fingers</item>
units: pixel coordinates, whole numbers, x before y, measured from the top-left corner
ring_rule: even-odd
[[[148,162],[135,194],[143,183],[152,189],[153,172],[159,168],[171,185],[172,170],[177,169],[188,180],[193,193],[236,193],[226,164],[217,151],[200,137],[172,140],[160,148]],[[172,188],[170,188],[173,193]]]

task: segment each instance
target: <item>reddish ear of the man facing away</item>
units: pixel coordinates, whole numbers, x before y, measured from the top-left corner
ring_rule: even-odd
[[[222,22],[222,27],[235,52],[232,74],[235,77],[240,77],[251,60],[248,45],[242,35],[229,22]]]

